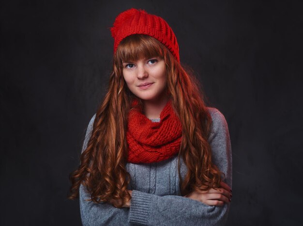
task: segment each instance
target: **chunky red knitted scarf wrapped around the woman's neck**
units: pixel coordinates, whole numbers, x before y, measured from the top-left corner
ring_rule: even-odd
[[[182,125],[168,101],[160,122],[152,122],[139,109],[128,115],[128,162],[151,163],[169,159],[180,150]]]

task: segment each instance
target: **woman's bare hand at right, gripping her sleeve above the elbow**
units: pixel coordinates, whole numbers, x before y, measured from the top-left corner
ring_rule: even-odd
[[[223,206],[224,203],[231,202],[232,193],[226,183],[221,182],[220,185],[221,187],[218,189],[211,188],[205,192],[193,191],[184,197],[194,199],[209,206]]]

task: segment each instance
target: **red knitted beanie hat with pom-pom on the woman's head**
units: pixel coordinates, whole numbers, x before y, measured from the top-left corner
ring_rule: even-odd
[[[144,10],[129,9],[116,17],[110,31],[114,38],[114,53],[123,38],[132,34],[145,34],[165,45],[180,62],[177,38],[167,22],[160,16],[148,14]]]

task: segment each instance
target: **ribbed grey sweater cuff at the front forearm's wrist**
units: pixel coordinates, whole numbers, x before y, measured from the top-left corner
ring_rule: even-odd
[[[147,225],[151,209],[152,195],[133,190],[129,210],[130,223]]]

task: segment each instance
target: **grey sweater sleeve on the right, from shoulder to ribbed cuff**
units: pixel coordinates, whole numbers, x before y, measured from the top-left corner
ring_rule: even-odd
[[[212,160],[225,174],[225,182],[231,186],[231,146],[227,122],[218,110],[209,110],[212,115],[209,137]],[[157,226],[221,226],[226,224],[229,205],[212,207],[178,195],[158,196],[133,190],[129,221]]]

